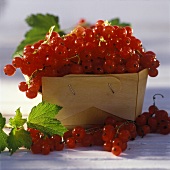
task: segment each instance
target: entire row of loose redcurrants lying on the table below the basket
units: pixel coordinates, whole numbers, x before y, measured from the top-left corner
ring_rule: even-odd
[[[64,133],[63,137],[53,135],[44,136],[40,131],[29,128],[32,138],[31,151],[34,154],[47,155],[51,151],[62,151],[64,148],[101,146],[103,151],[111,152],[115,156],[121,155],[128,147],[128,142],[135,140],[137,136],[144,137],[149,133],[170,134],[170,117],[167,111],[159,110],[154,103],[149,106],[148,112],[143,112],[132,120],[116,120],[115,117],[107,117],[103,126],[95,126],[85,129],[76,126]],[[162,95],[161,95],[162,96]],[[154,106],[154,107],[153,107]],[[151,112],[149,112],[151,109]]]

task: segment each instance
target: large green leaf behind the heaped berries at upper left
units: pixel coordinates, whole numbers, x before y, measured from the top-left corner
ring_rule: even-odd
[[[60,30],[58,16],[51,14],[32,14],[25,20],[31,29],[25,33],[25,39],[17,46],[13,57],[23,54],[23,49],[26,45],[32,45],[39,40],[44,40],[46,33],[50,27],[55,26],[54,31],[58,32],[61,36],[65,33]]]

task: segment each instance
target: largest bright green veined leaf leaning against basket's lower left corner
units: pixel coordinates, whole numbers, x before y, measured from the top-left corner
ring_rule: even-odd
[[[56,119],[62,107],[47,102],[41,102],[33,107],[28,116],[27,126],[43,132],[45,135],[63,135],[67,129]]]

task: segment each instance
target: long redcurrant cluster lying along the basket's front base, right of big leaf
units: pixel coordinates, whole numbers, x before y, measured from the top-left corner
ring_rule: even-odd
[[[113,120],[114,124],[110,124]],[[72,131],[64,135],[66,146],[75,148],[77,146],[103,146],[104,151],[112,152],[118,156],[126,150],[127,142],[134,139],[137,135],[136,126],[129,121],[116,121],[108,117],[103,128],[95,127],[85,130],[83,127],[75,127]],[[69,134],[69,135],[68,135]]]

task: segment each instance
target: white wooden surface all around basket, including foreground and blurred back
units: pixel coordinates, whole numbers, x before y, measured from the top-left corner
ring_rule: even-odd
[[[2,1],[2,0],[0,0]],[[120,17],[131,22],[134,32],[148,50],[153,50],[161,62],[159,76],[149,78],[145,93],[143,111],[146,111],[155,93],[156,104],[170,114],[170,1],[100,1],[90,0],[6,0],[0,8],[0,112],[9,119],[21,107],[26,117],[30,109],[41,102],[41,96],[30,100],[19,92],[17,85],[24,80],[17,72],[13,77],[4,76],[3,66],[11,62],[11,55],[28,30],[24,19],[31,13],[53,13],[60,16],[63,28],[74,25],[80,18],[94,22],[100,18]],[[2,3],[0,3],[2,5]],[[3,10],[2,10],[3,9]],[[170,135],[149,134],[144,138],[128,142],[128,148],[121,156],[113,156],[101,147],[64,149],[51,152],[48,156],[33,155],[21,149],[9,156],[0,154],[0,170],[54,170],[54,169],[154,169],[170,170]]]

